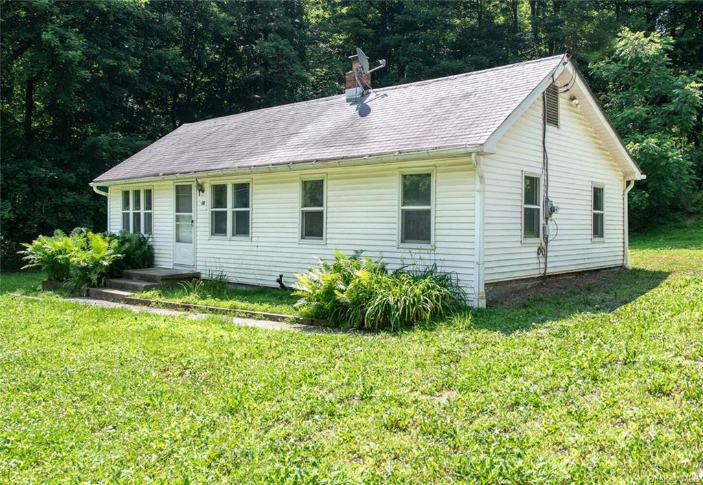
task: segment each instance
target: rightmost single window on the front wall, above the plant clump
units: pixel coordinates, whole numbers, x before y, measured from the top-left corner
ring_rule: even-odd
[[[400,242],[432,243],[432,173],[401,175]]]

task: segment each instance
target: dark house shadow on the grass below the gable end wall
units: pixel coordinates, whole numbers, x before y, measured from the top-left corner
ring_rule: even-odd
[[[514,306],[474,310],[470,312],[471,325],[510,334],[579,313],[608,313],[653,290],[669,274],[648,269],[607,271],[599,273],[598,278],[589,278],[587,283],[576,277],[572,287],[565,290],[546,290],[543,295],[527,297]],[[533,290],[539,292],[539,286]]]

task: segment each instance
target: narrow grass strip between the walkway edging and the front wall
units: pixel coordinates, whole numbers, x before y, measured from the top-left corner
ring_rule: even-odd
[[[290,290],[278,290],[277,288],[231,288],[213,291],[205,285],[197,292],[189,292],[182,286],[174,286],[140,292],[134,296],[168,302],[219,306],[228,309],[265,311],[283,315],[299,314],[299,309],[293,306],[299,297],[292,295]]]

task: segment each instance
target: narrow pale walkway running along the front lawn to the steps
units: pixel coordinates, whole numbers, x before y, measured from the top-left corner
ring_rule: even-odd
[[[155,315],[168,315],[168,316],[185,316],[186,318],[192,318],[193,320],[202,320],[203,318],[209,317],[219,317],[231,320],[237,325],[245,325],[247,327],[265,328],[266,330],[298,330],[299,332],[310,332],[310,333],[337,333],[344,335],[361,335],[361,332],[349,331],[345,332],[337,328],[329,327],[318,327],[316,325],[303,325],[302,323],[287,323],[287,322],[276,322],[270,320],[255,320],[254,318],[240,318],[231,317],[224,315],[215,315],[212,313],[193,313],[191,311],[182,310],[170,310],[165,308],[157,308],[155,306],[140,306],[140,305],[130,305],[126,303],[116,303],[108,302],[103,299],[89,298],[89,297],[77,297],[77,298],[67,298],[70,302],[76,302],[82,305],[91,306],[103,306],[105,308],[122,308],[131,311],[146,311],[148,313],[154,313]]]

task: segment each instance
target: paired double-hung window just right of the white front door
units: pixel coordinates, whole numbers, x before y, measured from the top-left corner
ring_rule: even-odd
[[[231,187],[231,196],[229,195]],[[231,214],[231,218],[227,214]],[[210,186],[210,235],[249,237],[251,183],[214,183]]]

